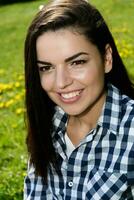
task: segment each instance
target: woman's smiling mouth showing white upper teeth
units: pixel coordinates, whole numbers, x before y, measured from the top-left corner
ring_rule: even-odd
[[[81,97],[82,90],[77,90],[68,93],[60,93],[60,99],[65,103],[73,103]]]

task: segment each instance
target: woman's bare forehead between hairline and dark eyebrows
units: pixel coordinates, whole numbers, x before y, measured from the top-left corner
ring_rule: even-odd
[[[37,57],[51,59],[53,57],[69,57],[75,53],[86,51],[99,53],[83,34],[71,29],[48,31],[38,37],[36,42]]]

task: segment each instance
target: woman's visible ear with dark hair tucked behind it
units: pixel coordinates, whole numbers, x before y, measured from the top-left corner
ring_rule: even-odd
[[[112,64],[113,64],[112,48],[109,44],[107,44],[105,47],[105,57],[104,57],[105,73],[109,73],[111,71]]]

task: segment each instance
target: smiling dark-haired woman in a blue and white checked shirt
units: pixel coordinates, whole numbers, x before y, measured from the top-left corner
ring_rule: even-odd
[[[45,5],[25,42],[24,199],[133,199],[134,89],[99,11]]]

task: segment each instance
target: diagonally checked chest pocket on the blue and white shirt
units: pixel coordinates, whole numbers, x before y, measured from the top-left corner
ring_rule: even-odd
[[[127,190],[127,175],[93,168],[87,182],[86,200],[121,200]]]

